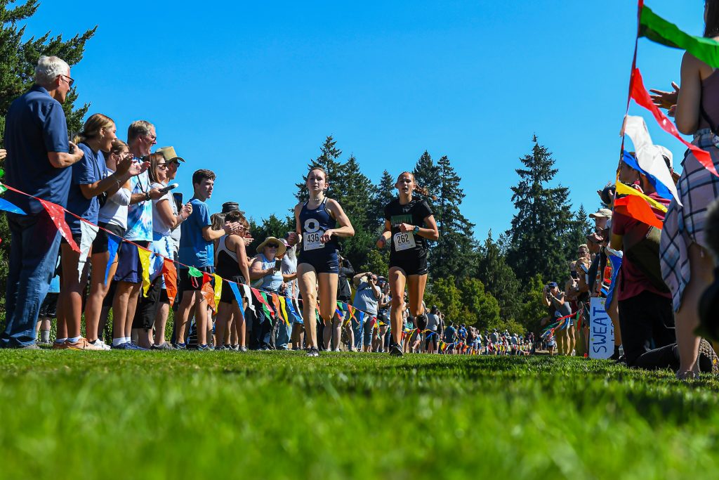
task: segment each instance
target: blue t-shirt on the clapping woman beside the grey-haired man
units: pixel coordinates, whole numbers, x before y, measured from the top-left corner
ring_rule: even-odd
[[[98,152],[95,153],[84,143],[78,145],[78,148],[85,152],[85,156],[71,167],[73,171],[73,181],[68,191],[67,208],[70,212],[78,214],[88,222],[97,225],[100,201],[96,196],[93,196],[91,199],[86,198],[80,186],[94,184],[96,181],[101,181],[105,178],[107,176],[107,164],[101,151],[98,150]],[[69,213],[65,213],[65,222],[68,222],[71,232],[80,233],[80,219]]]

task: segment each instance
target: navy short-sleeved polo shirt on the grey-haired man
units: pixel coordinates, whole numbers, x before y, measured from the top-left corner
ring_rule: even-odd
[[[4,184],[62,207],[67,205],[72,172],[55,168],[48,152],[68,153],[68,124],[59,101],[42,86],[32,86],[10,105],[5,123]],[[29,214],[42,211],[39,201],[8,190],[5,199]]]

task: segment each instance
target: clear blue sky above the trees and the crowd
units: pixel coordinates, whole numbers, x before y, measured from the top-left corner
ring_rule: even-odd
[[[477,237],[510,226],[510,186],[536,133],[574,208],[613,179],[636,2],[45,1],[27,32],[99,25],[72,76],[90,113],[157,126],[191,173],[219,174],[210,200],[255,219],[293,207],[294,184],[334,135],[373,182],[449,155]],[[702,33],[701,1],[649,0]],[[681,52],[639,41],[648,88],[679,81]],[[630,113],[644,114],[639,107]],[[644,114],[653,140],[684,148]]]

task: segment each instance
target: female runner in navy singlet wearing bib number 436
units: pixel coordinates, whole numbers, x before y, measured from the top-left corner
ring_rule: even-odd
[[[331,327],[336,309],[339,273],[337,237],[354,235],[352,223],[339,203],[324,196],[328,186],[329,178],[322,168],[316,167],[309,171],[307,189],[310,198],[295,206],[297,232],[290,233],[287,239],[291,245],[302,243],[297,261],[297,278],[302,295],[307,356],[310,357],[319,356],[315,319],[318,297],[325,325]]]

